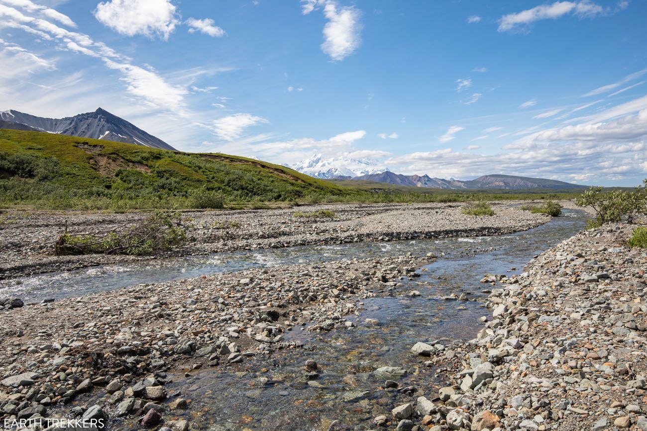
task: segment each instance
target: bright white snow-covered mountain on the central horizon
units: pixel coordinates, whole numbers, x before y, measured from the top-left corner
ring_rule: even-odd
[[[378,165],[375,160],[367,158],[355,159],[342,156],[325,159],[322,154],[315,154],[292,165],[291,168],[316,178],[327,179],[378,174],[389,170],[388,167]]]

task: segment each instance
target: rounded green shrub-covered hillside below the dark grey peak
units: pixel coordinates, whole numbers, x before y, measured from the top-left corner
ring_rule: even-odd
[[[212,207],[223,197],[232,205],[321,196],[343,199],[354,193],[287,167],[245,157],[0,130],[0,204],[5,206],[192,208]]]

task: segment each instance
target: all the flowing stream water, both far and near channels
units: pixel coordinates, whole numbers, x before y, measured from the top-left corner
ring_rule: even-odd
[[[479,282],[484,273],[520,273],[532,257],[580,231],[586,218],[581,211],[564,210],[564,216],[540,227],[498,237],[300,246],[99,266],[7,280],[0,284],[0,296],[12,291],[40,300],[245,268],[408,252],[441,255],[419,271],[421,277],[402,280],[404,286],[388,297],[362,300],[360,311],[348,318],[355,321],[354,328],[328,333],[296,328],[285,339],[302,341],[302,349],[278,351],[269,359],[248,359],[226,369],[192,372],[189,377],[171,375],[173,382],[167,385],[170,392],[192,400],[190,410],[178,417],[189,419],[197,429],[325,430],[336,419],[352,429],[367,429],[372,417],[388,415],[396,405],[418,396],[382,389],[384,377],[376,377],[374,370],[380,366],[409,370],[400,379],[402,386],[429,389],[443,384],[442,375],[435,375],[410,353],[411,346],[417,341],[441,339],[449,345],[452,340],[472,339],[479,330],[478,317],[488,314],[480,301],[443,300],[443,296],[467,293],[483,299],[482,291],[489,287]],[[421,296],[406,295],[413,289]],[[364,323],[367,318],[379,324]],[[305,378],[307,359],[321,368],[314,384]],[[177,412],[165,417],[173,415]],[[112,426],[137,428],[129,421]]]

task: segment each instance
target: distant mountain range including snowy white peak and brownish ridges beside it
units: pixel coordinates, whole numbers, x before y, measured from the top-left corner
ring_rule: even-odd
[[[435,178],[428,175],[396,174],[385,166],[369,159],[331,158],[324,159],[321,154],[303,160],[292,169],[316,178],[329,180],[364,180],[378,183],[406,185],[410,187],[429,187],[432,189],[577,189],[585,185],[571,184],[544,178],[491,174],[479,176],[474,180],[455,180]]]

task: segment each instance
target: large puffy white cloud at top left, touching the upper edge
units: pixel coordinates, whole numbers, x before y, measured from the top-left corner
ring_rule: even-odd
[[[94,16],[126,36],[159,35],[163,39],[168,39],[180,22],[170,0],[109,0],[96,5]]]

